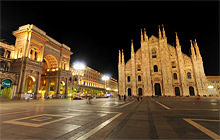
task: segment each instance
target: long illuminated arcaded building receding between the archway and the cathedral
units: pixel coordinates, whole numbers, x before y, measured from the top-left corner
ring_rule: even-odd
[[[79,88],[80,93],[83,95],[89,93],[97,96],[103,96],[105,89],[106,92],[111,93],[111,95],[118,92],[118,82],[116,79],[110,77],[110,79],[105,83],[105,81],[102,80],[104,74],[88,66],[86,66],[84,70],[79,71],[79,85],[77,85],[78,70],[70,68],[70,71],[72,72],[72,78],[69,82],[72,84],[71,87],[74,88],[71,89],[70,93],[76,92],[77,88]]]

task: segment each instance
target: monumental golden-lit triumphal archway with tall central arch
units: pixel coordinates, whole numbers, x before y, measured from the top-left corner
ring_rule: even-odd
[[[16,95],[24,99],[32,94],[59,97],[67,94],[70,48],[49,37],[33,24],[19,27],[16,37],[11,71],[19,73]]]

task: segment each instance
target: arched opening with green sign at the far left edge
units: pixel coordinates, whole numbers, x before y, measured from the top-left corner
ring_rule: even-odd
[[[4,99],[11,99],[12,96],[12,81],[9,79],[5,79],[2,82],[0,97]]]

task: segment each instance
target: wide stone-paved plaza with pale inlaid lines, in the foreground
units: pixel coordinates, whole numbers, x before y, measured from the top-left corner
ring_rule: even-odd
[[[220,139],[219,98],[0,103],[1,139]]]

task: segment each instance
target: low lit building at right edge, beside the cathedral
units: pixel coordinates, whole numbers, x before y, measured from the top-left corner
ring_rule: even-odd
[[[220,76],[206,76],[208,83],[208,94],[219,95],[220,94]]]

